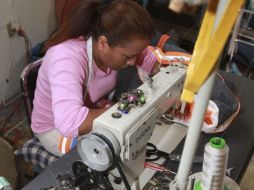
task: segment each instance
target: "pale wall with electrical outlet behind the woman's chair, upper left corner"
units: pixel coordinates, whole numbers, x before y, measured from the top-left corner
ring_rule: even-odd
[[[9,38],[8,22],[20,25],[35,46],[56,28],[54,1],[0,0],[0,105],[20,91],[20,74],[25,67],[24,39],[17,35]]]

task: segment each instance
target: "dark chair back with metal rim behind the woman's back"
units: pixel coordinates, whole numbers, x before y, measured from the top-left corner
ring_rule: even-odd
[[[27,120],[31,124],[31,116],[33,110],[33,99],[36,88],[38,71],[42,63],[42,58],[28,64],[21,73],[21,91],[25,103]]]

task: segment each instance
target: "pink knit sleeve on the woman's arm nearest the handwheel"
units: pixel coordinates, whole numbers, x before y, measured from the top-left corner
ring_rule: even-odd
[[[64,136],[78,136],[78,128],[89,111],[83,102],[87,57],[68,49],[58,49],[51,56],[48,77],[55,127]]]

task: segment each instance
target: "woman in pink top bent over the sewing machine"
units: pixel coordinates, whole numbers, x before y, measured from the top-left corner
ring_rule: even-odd
[[[61,156],[61,137],[91,131],[94,118],[110,107],[104,98],[117,71],[134,65],[155,70],[146,48],[154,33],[150,16],[135,1],[80,2],[47,42],[38,74],[32,129],[49,152]]]

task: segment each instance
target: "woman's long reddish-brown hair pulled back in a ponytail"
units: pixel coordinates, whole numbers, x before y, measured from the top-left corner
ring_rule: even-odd
[[[155,28],[148,12],[133,0],[81,0],[72,15],[45,44],[51,46],[67,39],[105,35],[111,47],[123,46],[132,39],[151,39]]]

